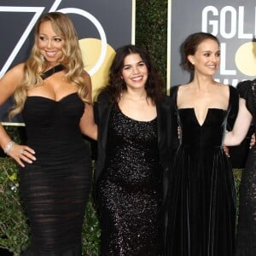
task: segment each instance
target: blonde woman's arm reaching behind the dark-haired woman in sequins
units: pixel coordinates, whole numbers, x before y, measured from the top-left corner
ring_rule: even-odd
[[[91,102],[91,81],[88,73],[85,75],[86,82],[88,84],[89,93],[87,95],[88,102]],[[80,130],[81,132],[96,140],[97,139],[97,125],[94,121],[93,115],[93,105],[92,103],[85,103],[84,114],[80,120]]]

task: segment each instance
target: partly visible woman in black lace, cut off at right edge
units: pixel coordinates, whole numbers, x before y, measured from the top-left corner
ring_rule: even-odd
[[[241,143],[253,121],[256,127],[256,79],[237,84],[240,95],[239,112],[233,131],[226,134],[224,143],[233,146]],[[254,128],[255,129],[255,128]],[[256,150],[251,148],[241,176],[239,221],[236,236],[236,256],[256,255]]]

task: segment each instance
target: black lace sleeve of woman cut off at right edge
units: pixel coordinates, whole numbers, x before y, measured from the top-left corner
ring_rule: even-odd
[[[248,111],[254,115],[254,109],[256,109],[256,80],[240,82],[237,84],[237,90],[239,96],[245,99]]]

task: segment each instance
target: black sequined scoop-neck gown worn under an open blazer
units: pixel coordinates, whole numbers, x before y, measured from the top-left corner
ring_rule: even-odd
[[[161,175],[157,119],[137,121],[113,107],[97,183],[101,255],[161,255]]]

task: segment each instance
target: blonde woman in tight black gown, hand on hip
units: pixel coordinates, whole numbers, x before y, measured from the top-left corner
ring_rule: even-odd
[[[34,40],[28,60],[0,80],[0,104],[14,95],[10,114],[22,113],[26,124],[26,145],[12,142],[0,126],[1,147],[20,165],[31,227],[31,245],[22,255],[80,256],[91,184],[90,151],[81,131],[96,137],[90,76],[67,15],[44,15]]]

